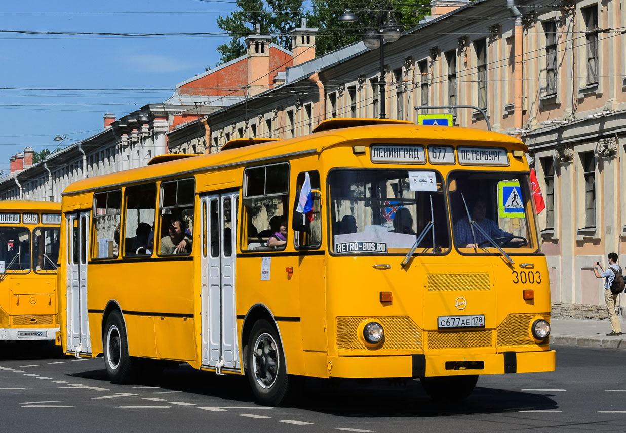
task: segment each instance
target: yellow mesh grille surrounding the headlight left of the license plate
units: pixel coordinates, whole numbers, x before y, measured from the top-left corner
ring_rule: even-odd
[[[378,322],[385,332],[381,346],[367,347],[357,332],[363,322]],[[422,348],[422,330],[406,316],[337,317],[337,349],[341,351],[369,349],[371,351],[408,350]]]

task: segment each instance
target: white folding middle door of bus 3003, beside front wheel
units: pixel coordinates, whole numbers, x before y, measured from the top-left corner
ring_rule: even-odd
[[[203,196],[202,213],[202,364],[240,369],[235,315],[235,234],[239,194]]]

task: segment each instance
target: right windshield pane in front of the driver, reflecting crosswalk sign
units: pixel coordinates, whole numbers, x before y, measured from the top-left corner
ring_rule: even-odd
[[[454,244],[463,252],[538,249],[528,174],[456,171],[448,185]]]

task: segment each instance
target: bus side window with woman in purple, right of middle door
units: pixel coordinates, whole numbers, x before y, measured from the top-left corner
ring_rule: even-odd
[[[242,251],[281,251],[289,234],[281,233],[289,212],[289,164],[281,162],[244,171]],[[270,246],[268,246],[270,244]]]

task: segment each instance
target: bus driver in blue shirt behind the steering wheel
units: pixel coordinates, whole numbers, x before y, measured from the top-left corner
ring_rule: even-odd
[[[487,202],[485,199],[478,197],[478,199],[474,202],[474,206],[472,207],[470,214],[473,221],[476,221],[476,224],[478,224],[480,228],[491,237],[491,239],[506,239],[513,237],[513,234],[500,229],[498,224],[487,218],[486,214]],[[478,248],[485,246],[485,243],[489,242],[487,238],[476,229],[474,229],[474,234],[472,235],[468,217],[463,217],[456,222],[454,225],[454,235],[456,243],[461,248]],[[526,244],[526,240],[515,237],[515,239],[511,239],[510,242],[506,243],[510,243],[510,246],[512,247],[520,247]]]

